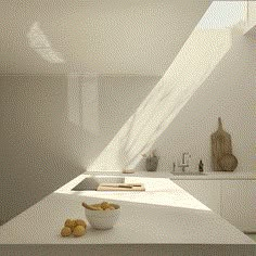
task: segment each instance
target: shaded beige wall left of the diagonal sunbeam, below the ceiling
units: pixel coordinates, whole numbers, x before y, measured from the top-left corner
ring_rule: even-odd
[[[92,106],[99,108],[100,132],[93,133],[87,124],[92,124],[90,113],[95,110],[85,110],[92,94],[79,98],[76,111],[85,114],[82,123],[71,118],[77,103],[71,88],[85,92],[91,79],[78,77],[73,85],[66,76],[0,76],[0,221],[84,172],[158,79],[98,78],[98,102]]]

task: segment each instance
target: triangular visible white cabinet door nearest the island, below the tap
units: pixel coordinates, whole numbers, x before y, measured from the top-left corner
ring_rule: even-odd
[[[220,214],[220,180],[172,180],[201,203]]]

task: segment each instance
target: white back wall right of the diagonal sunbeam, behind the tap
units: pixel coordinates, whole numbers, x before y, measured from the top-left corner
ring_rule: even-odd
[[[232,137],[239,161],[235,171],[255,169],[255,43],[240,36],[154,144],[161,156],[158,170],[171,170],[182,152],[191,154],[191,170],[197,170],[201,158],[205,169],[212,170],[210,133],[216,131],[219,116]]]

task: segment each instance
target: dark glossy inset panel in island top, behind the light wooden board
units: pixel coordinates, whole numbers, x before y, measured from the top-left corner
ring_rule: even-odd
[[[124,177],[87,177],[80,183],[78,183],[73,191],[88,191],[97,190],[100,183],[124,183]]]

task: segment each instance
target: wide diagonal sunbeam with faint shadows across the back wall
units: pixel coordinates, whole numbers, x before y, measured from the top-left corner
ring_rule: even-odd
[[[231,33],[196,27],[163,78],[87,170],[136,168],[229,51]]]

